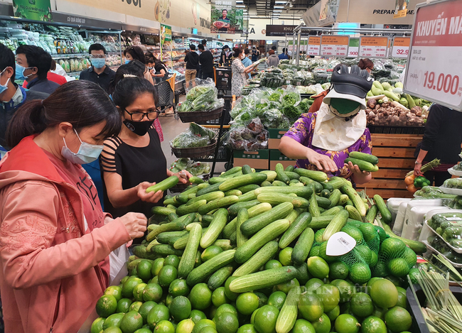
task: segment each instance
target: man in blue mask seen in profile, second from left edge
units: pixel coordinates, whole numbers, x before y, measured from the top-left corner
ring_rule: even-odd
[[[51,94],[60,85],[47,79],[51,67],[50,53],[35,45],[16,49],[16,80],[27,82],[27,89]]]

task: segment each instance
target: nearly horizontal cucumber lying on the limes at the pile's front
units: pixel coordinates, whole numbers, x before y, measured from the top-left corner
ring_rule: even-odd
[[[295,276],[296,268],[294,266],[271,268],[266,271],[240,276],[232,280],[230,291],[233,293],[245,293],[247,291],[273,287],[274,285],[290,281]]]

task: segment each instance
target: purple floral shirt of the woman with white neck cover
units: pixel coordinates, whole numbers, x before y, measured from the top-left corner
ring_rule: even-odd
[[[289,131],[284,134],[284,136],[293,138],[303,146],[313,149],[313,151],[316,151],[316,153],[329,156],[339,169],[334,176],[349,178],[350,170],[345,167],[345,158],[348,158],[348,153],[351,151],[360,151],[367,154],[372,153],[372,140],[370,138],[369,129],[365,129],[362,136],[353,144],[353,146],[350,146],[343,151],[326,151],[325,149],[314,147],[312,144],[314,126],[316,125],[316,116],[317,113],[302,114],[300,118],[297,119],[297,121],[294,123],[294,125],[289,129]],[[316,165],[311,164],[308,160],[297,160],[296,164],[299,168],[318,170]]]

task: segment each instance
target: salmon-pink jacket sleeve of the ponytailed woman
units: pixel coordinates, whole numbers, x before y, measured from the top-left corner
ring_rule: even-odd
[[[63,226],[58,223],[60,199],[55,187],[29,181],[6,190],[1,197],[0,260],[13,288],[77,275],[131,240],[122,221],[114,219],[90,234],[53,245],[58,225]]]

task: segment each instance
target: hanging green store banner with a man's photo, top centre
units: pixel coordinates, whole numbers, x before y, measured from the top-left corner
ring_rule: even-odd
[[[211,33],[242,33],[244,11],[236,7],[235,0],[212,0],[210,11]]]

